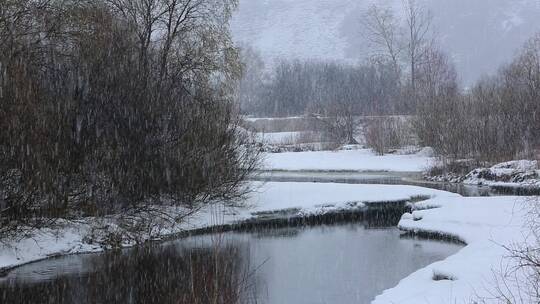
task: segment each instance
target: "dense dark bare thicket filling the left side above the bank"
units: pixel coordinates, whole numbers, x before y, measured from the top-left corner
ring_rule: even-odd
[[[0,0],[2,227],[241,194],[235,5]]]

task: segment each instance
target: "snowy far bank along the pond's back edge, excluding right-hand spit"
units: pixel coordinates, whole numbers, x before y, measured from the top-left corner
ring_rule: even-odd
[[[234,224],[283,211],[285,216],[304,216],[361,208],[364,203],[388,203],[415,197],[456,197],[449,192],[414,186],[347,185],[331,183],[258,183],[244,207],[212,205],[189,217],[174,229],[164,229],[161,236],[183,231]],[[0,245],[0,269],[10,268],[50,256],[99,252],[102,248],[85,242],[91,226],[74,223],[64,229],[38,231],[32,238]],[[126,243],[124,246],[131,246]]]

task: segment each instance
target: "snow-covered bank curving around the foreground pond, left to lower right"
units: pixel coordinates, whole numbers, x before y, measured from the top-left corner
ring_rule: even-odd
[[[471,197],[415,186],[351,185],[333,183],[258,183],[242,207],[213,205],[182,225],[164,230],[161,237],[180,232],[232,225],[272,217],[307,217],[353,211],[367,205],[418,201],[403,215],[399,228],[414,233],[457,238],[467,244],[457,254],[422,268],[384,291],[375,304],[467,303],[489,297],[495,275],[511,246],[527,233],[524,197]],[[61,231],[44,230],[33,238],[0,247],[0,268],[10,268],[54,255],[99,252],[84,242],[89,226],[73,224]],[[134,244],[125,244],[132,246]],[[489,303],[489,301],[487,301]]]

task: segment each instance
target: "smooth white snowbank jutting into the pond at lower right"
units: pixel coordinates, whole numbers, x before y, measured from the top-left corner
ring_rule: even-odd
[[[456,237],[467,246],[411,274],[373,303],[491,303],[497,273],[511,262],[503,246],[523,242],[528,233],[529,203],[525,197],[436,197],[415,204],[424,210],[405,214],[399,228]]]

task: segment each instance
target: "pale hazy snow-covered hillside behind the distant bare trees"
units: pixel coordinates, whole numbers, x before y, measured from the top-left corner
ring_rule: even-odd
[[[359,20],[371,1],[241,0],[233,35],[253,44],[268,61],[293,57],[354,62],[365,54]],[[395,7],[401,3],[384,2]],[[536,0],[427,0],[427,5],[465,84],[494,72],[540,31]]]

